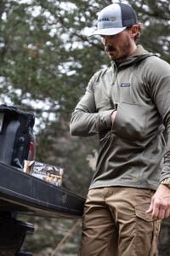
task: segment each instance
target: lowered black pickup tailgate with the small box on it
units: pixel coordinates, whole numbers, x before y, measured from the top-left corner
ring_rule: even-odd
[[[85,199],[0,162],[0,212],[81,218]]]

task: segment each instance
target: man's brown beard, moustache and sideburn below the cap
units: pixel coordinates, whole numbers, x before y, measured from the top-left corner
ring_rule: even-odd
[[[123,44],[111,44],[105,47],[105,53],[109,55],[111,61],[120,64],[129,56],[131,41],[127,37]]]

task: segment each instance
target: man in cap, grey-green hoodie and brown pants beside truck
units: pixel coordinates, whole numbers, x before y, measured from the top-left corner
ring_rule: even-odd
[[[99,134],[82,218],[81,256],[154,256],[170,216],[170,66],[136,44],[141,26],[123,3],[98,29],[111,67],[95,73],[71,117],[71,134]]]

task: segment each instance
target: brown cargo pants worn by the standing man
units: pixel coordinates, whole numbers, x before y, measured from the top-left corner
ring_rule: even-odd
[[[80,256],[156,256],[160,221],[145,211],[154,191],[111,187],[88,192]]]

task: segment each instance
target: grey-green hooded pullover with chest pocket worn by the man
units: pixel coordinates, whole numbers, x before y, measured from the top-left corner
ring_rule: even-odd
[[[170,177],[170,65],[139,45],[119,67],[113,62],[94,74],[70,127],[72,135],[99,135],[89,189],[156,189]]]

